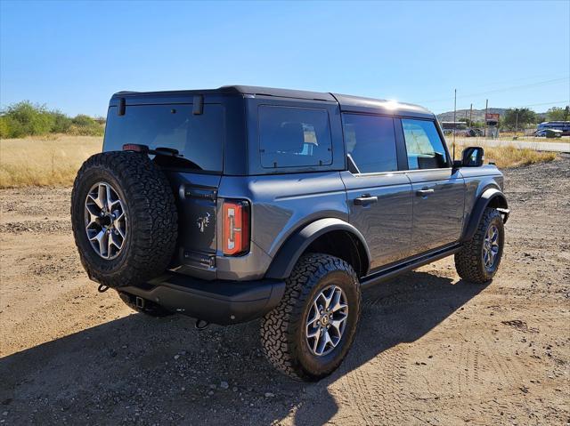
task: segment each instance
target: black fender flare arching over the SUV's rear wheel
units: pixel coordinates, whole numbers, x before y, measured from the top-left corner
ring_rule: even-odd
[[[363,275],[366,275],[370,269],[371,253],[360,231],[346,221],[337,218],[325,218],[313,221],[289,236],[285,243],[281,245],[275,257],[273,257],[265,277],[275,279],[289,277],[299,257],[311,243],[328,232],[338,230],[348,232],[361,243],[366,256],[366,259],[363,260],[364,269],[366,269],[363,271]]]

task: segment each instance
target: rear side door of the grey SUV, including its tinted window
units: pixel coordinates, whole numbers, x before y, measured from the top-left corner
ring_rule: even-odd
[[[398,171],[393,117],[343,114],[349,171],[346,186],[349,221],[366,239],[371,270],[409,255],[411,183]],[[405,160],[405,153],[400,153]]]

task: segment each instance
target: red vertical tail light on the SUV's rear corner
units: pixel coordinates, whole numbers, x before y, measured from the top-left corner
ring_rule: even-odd
[[[249,251],[249,203],[224,200],[224,254],[236,256]]]

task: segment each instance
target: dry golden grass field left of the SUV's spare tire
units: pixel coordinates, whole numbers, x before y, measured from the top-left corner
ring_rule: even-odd
[[[48,135],[0,141],[0,188],[70,186],[102,137]]]

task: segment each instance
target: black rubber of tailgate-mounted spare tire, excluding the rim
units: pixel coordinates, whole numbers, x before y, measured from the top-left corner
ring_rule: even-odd
[[[125,201],[125,246],[114,259],[103,259],[85,231],[85,197],[97,182],[108,182]],[[95,154],[79,169],[71,193],[71,225],[87,275],[109,287],[137,285],[159,276],[175,252],[178,216],[167,177],[141,153]]]

